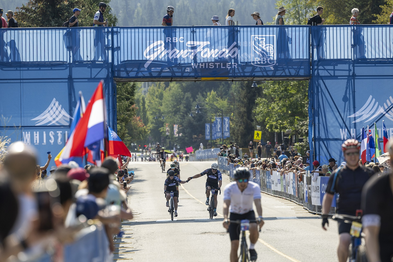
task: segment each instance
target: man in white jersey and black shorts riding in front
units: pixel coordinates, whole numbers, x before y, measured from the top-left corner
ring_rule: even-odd
[[[231,238],[231,262],[239,260],[237,249],[239,248],[240,225],[231,223],[235,220],[255,220],[255,213],[252,203],[257,208],[259,227],[264,224],[262,219],[261,188],[257,183],[249,181],[250,172],[247,168],[237,168],[234,174],[235,180],[224,188],[224,227],[228,229]],[[228,213],[230,217],[228,220]],[[250,260],[257,260],[255,243],[258,240],[259,232],[257,222],[250,222]]]

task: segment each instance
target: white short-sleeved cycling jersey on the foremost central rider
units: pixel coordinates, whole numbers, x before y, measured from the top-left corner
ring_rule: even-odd
[[[246,189],[240,191],[236,181],[226,185],[224,188],[224,201],[230,200],[229,212],[246,214],[253,210],[253,200],[261,199],[261,188],[257,183],[248,182]]]

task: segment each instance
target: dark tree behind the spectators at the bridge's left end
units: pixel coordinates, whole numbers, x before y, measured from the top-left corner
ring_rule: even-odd
[[[92,26],[95,12],[101,0],[29,0],[27,4],[17,7],[15,19],[19,27],[59,27],[72,17],[75,7],[82,9],[79,26]],[[106,1],[107,4],[110,0]],[[104,13],[108,24],[117,23],[116,15],[111,14],[108,6]]]

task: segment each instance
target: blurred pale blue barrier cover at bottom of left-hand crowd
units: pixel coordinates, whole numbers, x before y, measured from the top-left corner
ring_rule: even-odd
[[[63,262],[112,262],[109,242],[102,225],[92,225],[77,234],[77,240],[66,245],[63,250]],[[45,254],[35,262],[53,261]]]

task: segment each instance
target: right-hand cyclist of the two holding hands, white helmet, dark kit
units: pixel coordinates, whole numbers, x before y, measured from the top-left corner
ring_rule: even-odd
[[[206,175],[206,205],[209,205],[209,197],[211,188],[216,188],[216,192],[214,193],[214,216],[217,216],[217,194],[222,185],[222,177],[221,172],[218,170],[219,165],[217,163],[211,164],[211,168],[206,169],[204,172],[194,175],[193,177],[189,177],[187,181],[190,181],[193,178],[201,177],[202,175]]]

